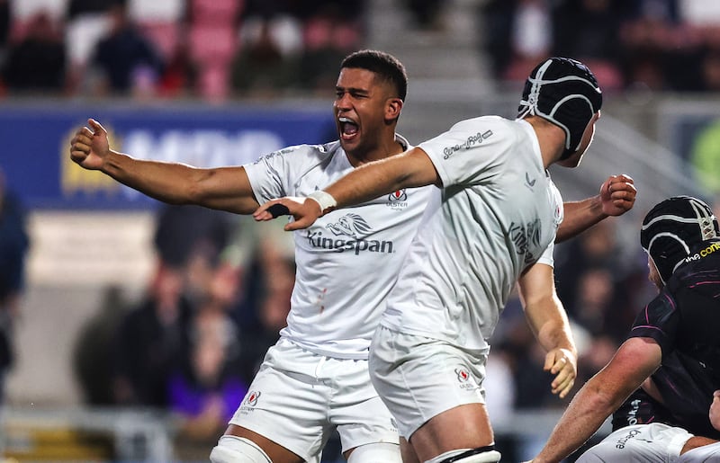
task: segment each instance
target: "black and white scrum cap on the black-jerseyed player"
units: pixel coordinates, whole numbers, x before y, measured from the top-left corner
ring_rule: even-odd
[[[720,238],[713,210],[697,198],[674,196],[647,213],[640,229],[640,244],[653,258],[663,282],[698,245]]]

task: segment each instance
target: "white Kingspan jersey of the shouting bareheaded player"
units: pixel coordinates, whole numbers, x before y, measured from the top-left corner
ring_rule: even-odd
[[[396,136],[404,147],[408,142]],[[245,165],[261,204],[307,196],[351,172],[338,141],[289,147]],[[295,287],[281,336],[311,352],[367,359],[432,187],[405,189],[338,209],[293,232]]]

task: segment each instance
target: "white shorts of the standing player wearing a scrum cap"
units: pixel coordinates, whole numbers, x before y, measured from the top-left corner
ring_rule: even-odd
[[[370,376],[402,437],[458,405],[484,404],[487,350],[404,334],[381,325],[370,347]]]

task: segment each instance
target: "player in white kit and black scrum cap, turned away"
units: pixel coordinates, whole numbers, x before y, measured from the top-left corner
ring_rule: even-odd
[[[601,104],[588,67],[550,58],[528,77],[517,120],[462,120],[310,200],[283,198],[257,210],[265,220],[267,209],[284,205],[292,230],[389,191],[435,185],[370,350],[371,378],[398,421],[405,462],[500,460],[482,380],[488,340],[516,283],[547,352],[552,390],[570,392],[577,353],[553,273],[563,200],[546,169],[581,163]]]

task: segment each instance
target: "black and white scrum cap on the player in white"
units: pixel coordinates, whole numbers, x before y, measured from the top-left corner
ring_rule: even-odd
[[[580,147],[585,128],[601,106],[602,92],[589,67],[571,58],[549,58],[527,77],[518,118],[537,115],[562,128],[565,159]]]

